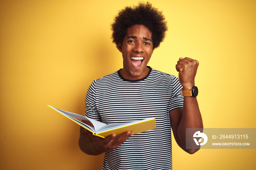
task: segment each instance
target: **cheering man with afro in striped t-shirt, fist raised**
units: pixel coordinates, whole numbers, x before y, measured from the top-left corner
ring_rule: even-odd
[[[133,135],[125,132],[103,139],[81,128],[79,146],[89,155],[105,152],[102,169],[172,169],[173,136],[186,149],[186,128],[203,128],[196,97],[181,96],[191,90],[199,63],[180,58],[179,79],[149,66],[153,50],[167,31],[161,11],[150,3],[126,7],[112,24],[112,39],[123,55],[123,69],[94,80],[86,94],[85,115],[103,123],[156,118],[156,129]],[[185,93],[185,92],[184,92]]]

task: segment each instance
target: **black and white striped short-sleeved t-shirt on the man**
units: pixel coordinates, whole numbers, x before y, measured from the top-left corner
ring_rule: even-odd
[[[183,107],[182,86],[177,77],[149,68],[140,80],[127,80],[118,70],[94,80],[87,91],[85,115],[90,118],[107,124],[156,119],[156,129],[106,152],[102,170],[172,169],[169,112]]]

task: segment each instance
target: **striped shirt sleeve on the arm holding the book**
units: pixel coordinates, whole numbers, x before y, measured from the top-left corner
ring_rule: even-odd
[[[101,116],[96,106],[96,80],[89,86],[85,97],[85,116],[101,121]]]

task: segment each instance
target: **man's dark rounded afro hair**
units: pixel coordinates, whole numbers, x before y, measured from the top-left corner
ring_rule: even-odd
[[[162,11],[158,11],[151,3],[139,3],[137,6],[120,10],[111,24],[113,43],[118,48],[127,33],[127,28],[143,25],[152,32],[153,50],[159,47],[166,35],[167,22]]]

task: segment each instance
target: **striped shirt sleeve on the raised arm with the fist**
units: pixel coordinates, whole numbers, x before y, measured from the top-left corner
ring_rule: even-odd
[[[180,84],[177,77],[173,78],[172,81],[172,97],[169,104],[169,112],[174,109],[183,108],[183,97],[181,96],[180,90],[182,89],[182,85]]]

